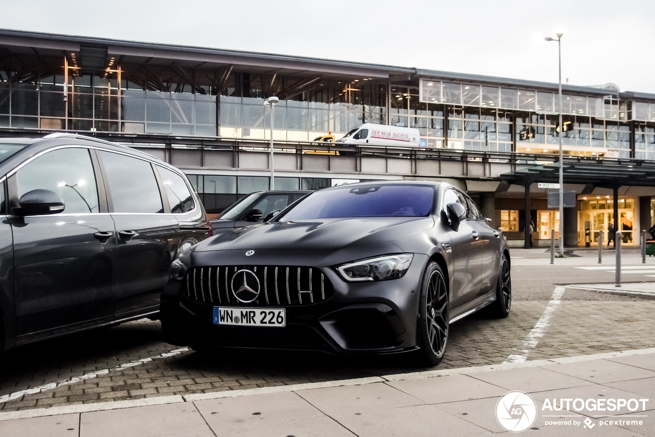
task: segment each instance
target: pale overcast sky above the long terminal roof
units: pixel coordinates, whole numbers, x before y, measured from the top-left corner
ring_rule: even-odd
[[[29,1],[0,28],[655,93],[655,1]]]

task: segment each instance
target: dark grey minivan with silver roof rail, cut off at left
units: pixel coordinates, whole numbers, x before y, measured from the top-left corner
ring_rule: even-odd
[[[209,222],[186,176],[70,134],[0,140],[0,351],[159,314]]]

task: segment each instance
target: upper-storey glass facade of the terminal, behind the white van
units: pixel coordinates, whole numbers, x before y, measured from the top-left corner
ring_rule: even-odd
[[[42,75],[24,69],[39,56],[20,56],[0,60],[0,128],[264,140],[271,128],[264,102],[278,96],[276,140],[310,141],[328,132],[338,139],[378,123],[417,128],[421,147],[555,153],[561,132],[568,155],[655,160],[655,96],[651,102],[647,94],[565,92],[560,103],[553,90],[500,83],[121,67],[115,58],[93,72],[77,67],[73,54],[67,74],[61,58],[48,58],[52,66]]]

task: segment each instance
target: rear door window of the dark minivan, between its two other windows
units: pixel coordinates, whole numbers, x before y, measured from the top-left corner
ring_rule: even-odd
[[[100,157],[107,172],[113,212],[164,212],[150,162],[104,151]]]

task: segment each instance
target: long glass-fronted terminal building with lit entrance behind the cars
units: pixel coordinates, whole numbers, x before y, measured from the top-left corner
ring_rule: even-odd
[[[564,168],[565,245],[654,223],[655,94],[416,68],[0,30],[0,136],[75,132],[181,168],[210,213],[269,189],[448,180],[510,244],[550,244],[548,189]],[[415,148],[318,143],[362,123],[419,129]],[[559,162],[559,135],[565,158]],[[553,191],[552,189],[550,191]],[[651,200],[651,198],[653,200]],[[529,225],[528,225],[529,227]],[[655,236],[654,236],[655,237]],[[607,232],[605,232],[607,243]]]

